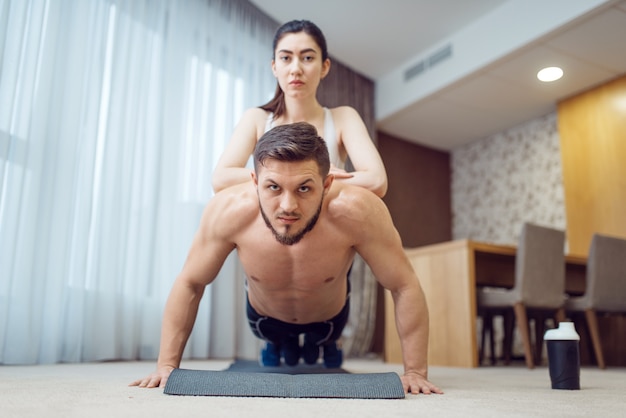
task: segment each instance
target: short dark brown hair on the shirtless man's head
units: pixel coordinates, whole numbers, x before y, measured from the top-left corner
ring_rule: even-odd
[[[254,148],[254,171],[258,173],[259,166],[264,165],[266,160],[313,160],[322,178],[326,178],[330,170],[326,142],[317,135],[317,129],[306,122],[279,125],[267,131]]]

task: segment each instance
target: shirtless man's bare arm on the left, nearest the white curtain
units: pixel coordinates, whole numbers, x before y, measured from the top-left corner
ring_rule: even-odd
[[[221,227],[228,224],[219,221],[227,208],[233,205],[229,201],[225,204],[223,200],[216,199],[207,205],[185,265],[170,291],[163,313],[157,369],[130,386],[164,387],[172,370],[180,366],[204,289],[215,279],[224,260],[234,249],[232,240],[227,238],[229,231]]]

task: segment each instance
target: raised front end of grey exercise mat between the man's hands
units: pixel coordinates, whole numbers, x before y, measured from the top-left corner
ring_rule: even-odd
[[[163,392],[189,396],[404,398],[402,382],[396,373],[286,374],[174,369]]]

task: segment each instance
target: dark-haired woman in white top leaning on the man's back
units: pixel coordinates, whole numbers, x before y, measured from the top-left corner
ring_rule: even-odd
[[[307,20],[287,22],[277,30],[273,49],[276,94],[267,104],[248,109],[235,127],[213,173],[215,191],[250,180],[251,170],[245,165],[263,133],[304,121],[326,141],[335,179],[383,197],[385,167],[359,114],[349,106],[328,109],[317,101],[317,88],[331,65],[322,31]],[[350,173],[344,168],[348,157],[354,167]]]

